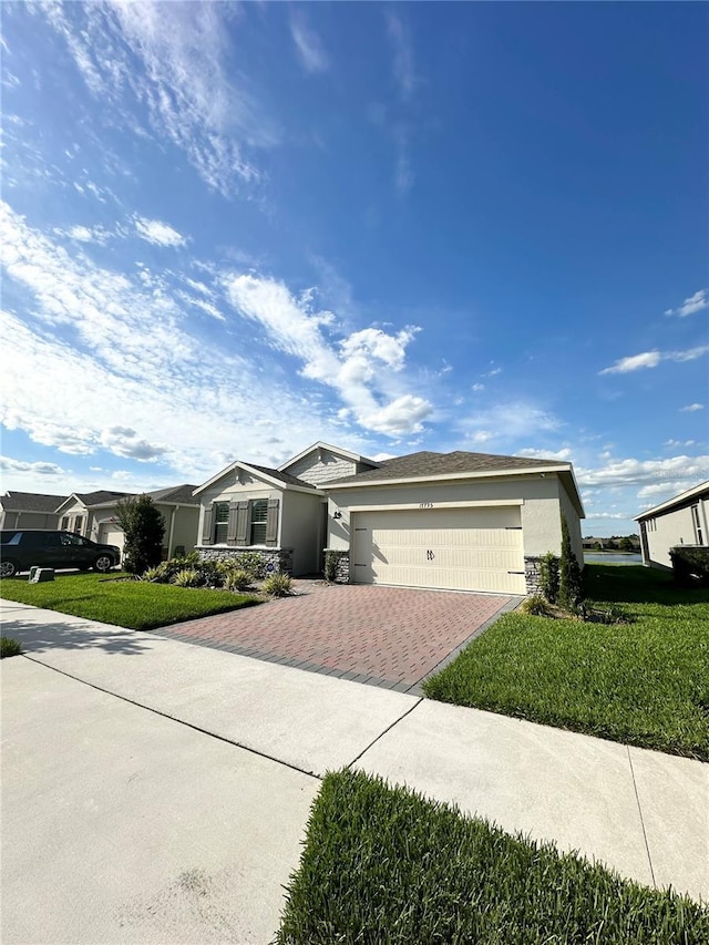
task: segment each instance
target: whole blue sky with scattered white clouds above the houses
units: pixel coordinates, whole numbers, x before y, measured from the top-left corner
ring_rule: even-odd
[[[2,485],[317,440],[709,479],[699,3],[3,3]]]

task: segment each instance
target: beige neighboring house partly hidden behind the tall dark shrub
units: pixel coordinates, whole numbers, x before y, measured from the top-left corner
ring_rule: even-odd
[[[184,484],[147,493],[165,521],[164,557],[171,557],[175,551],[185,553],[195,547],[199,503],[193,497],[194,489],[194,485]],[[137,497],[133,493],[106,490],[73,493],[58,509],[58,527],[123,548],[124,535],[116,516],[116,506],[127,496]]]

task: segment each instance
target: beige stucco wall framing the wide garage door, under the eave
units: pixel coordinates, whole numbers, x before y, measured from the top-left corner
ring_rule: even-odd
[[[367,490],[331,487],[329,491],[328,547],[333,549],[349,548],[350,513],[361,507],[403,503],[432,503],[433,507],[436,507],[441,502],[523,500],[524,554],[543,555],[548,551],[558,554],[561,551],[559,491],[564,492],[564,495],[565,491],[553,473],[546,473],[544,477],[541,475],[501,476],[484,481],[370,486]],[[338,511],[341,512],[342,517],[336,520],[333,514]],[[580,528],[577,532],[580,549]]]

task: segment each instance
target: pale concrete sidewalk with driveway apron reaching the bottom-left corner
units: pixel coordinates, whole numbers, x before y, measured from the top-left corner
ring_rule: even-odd
[[[269,941],[317,779],[348,764],[709,898],[707,764],[3,612],[27,653],[2,665],[3,942]]]

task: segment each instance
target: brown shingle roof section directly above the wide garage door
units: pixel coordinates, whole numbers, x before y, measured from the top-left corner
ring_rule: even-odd
[[[511,472],[514,470],[535,469],[540,466],[559,466],[565,469],[567,463],[558,460],[530,460],[526,456],[497,456],[493,453],[465,453],[456,450],[453,453],[431,453],[423,451],[410,453],[407,456],[394,456],[383,460],[376,470],[348,475],[328,482],[328,489],[340,483],[380,482],[397,479],[419,479],[427,475],[451,475],[470,472]]]

